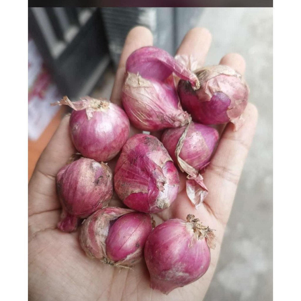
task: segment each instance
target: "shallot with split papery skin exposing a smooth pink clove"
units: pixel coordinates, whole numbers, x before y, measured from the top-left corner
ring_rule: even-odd
[[[89,257],[106,264],[129,267],[143,258],[144,244],[151,230],[148,214],[106,207],[85,220],[79,240]]]

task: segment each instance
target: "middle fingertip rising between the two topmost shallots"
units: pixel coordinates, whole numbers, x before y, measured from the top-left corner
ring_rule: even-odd
[[[177,54],[192,55],[203,66],[211,45],[211,33],[208,29],[195,27],[185,35]]]

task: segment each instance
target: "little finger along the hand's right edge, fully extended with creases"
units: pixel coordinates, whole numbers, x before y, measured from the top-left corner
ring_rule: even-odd
[[[223,225],[230,215],[237,184],[255,132],[257,115],[256,107],[248,104],[244,111],[244,125],[237,132],[234,132],[233,124],[226,126],[204,174],[209,193],[203,206]]]

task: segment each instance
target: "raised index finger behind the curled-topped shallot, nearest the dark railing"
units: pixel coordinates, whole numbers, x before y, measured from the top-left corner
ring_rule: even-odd
[[[110,98],[111,102],[114,104],[121,105],[121,89],[124,82],[127,58],[136,49],[151,45],[153,45],[153,35],[146,27],[136,26],[128,33],[120,56],[119,66]]]

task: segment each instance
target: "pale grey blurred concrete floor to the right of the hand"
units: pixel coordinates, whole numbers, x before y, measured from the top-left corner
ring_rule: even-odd
[[[244,166],[222,252],[204,301],[272,300],[273,10],[205,8],[199,26],[213,35],[206,65],[228,52],[247,63],[249,101],[259,110],[256,134]],[[109,71],[95,96],[110,97]]]

